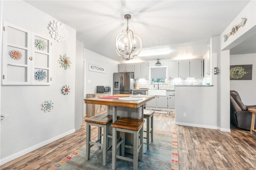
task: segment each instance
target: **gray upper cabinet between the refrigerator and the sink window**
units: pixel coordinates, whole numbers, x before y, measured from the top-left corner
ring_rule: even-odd
[[[146,78],[148,79],[148,72],[149,72],[149,63],[144,62],[144,63],[135,63],[134,65],[134,78],[139,79],[139,78]]]

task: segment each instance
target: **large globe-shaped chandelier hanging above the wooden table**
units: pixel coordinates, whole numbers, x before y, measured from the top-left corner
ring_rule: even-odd
[[[132,18],[130,14],[125,14],[124,18],[127,20],[126,30],[116,35],[116,52],[119,57],[125,60],[131,60],[138,56],[141,51],[142,43],[140,37],[134,35],[129,29],[128,20]]]

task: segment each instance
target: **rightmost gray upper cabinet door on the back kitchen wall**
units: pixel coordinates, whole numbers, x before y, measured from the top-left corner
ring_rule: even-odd
[[[190,78],[202,78],[202,59],[190,60]]]

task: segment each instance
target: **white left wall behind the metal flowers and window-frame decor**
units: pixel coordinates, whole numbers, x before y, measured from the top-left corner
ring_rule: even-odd
[[[56,19],[24,1],[1,2],[3,21],[50,38],[48,24]],[[65,42],[52,39],[50,86],[1,86],[1,114],[8,116],[1,122],[1,164],[74,132],[76,30],[66,28]],[[72,61],[68,70],[58,63],[64,54]],[[64,85],[70,86],[65,96],[60,91]],[[46,100],[54,103],[48,113],[42,110]]]

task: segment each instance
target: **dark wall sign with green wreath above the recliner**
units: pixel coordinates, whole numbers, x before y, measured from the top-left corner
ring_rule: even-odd
[[[252,64],[230,66],[230,80],[252,80]]]

